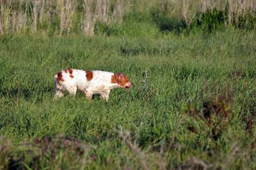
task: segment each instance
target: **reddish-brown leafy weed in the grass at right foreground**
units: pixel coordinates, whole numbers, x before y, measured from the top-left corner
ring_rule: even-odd
[[[208,139],[217,141],[224,132],[227,132],[232,116],[232,102],[234,91],[227,91],[216,97],[214,101],[203,102],[202,111],[198,111],[191,104],[184,112],[196,121],[199,129],[188,125],[188,130],[193,133],[205,133]],[[207,139],[207,141],[209,141]]]

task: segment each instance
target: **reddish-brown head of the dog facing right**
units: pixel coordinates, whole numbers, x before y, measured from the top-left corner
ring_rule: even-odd
[[[128,77],[124,75],[124,73],[115,73],[111,82],[117,83],[120,88],[124,89],[130,89],[132,87],[132,82],[129,81]]]

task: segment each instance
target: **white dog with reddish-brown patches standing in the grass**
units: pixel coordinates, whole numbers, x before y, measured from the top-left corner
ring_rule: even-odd
[[[54,86],[56,91],[54,98],[63,97],[65,91],[75,96],[77,89],[79,89],[89,100],[92,100],[93,94],[98,93],[108,102],[111,89],[129,89],[132,83],[123,73],[65,69],[54,75]]]

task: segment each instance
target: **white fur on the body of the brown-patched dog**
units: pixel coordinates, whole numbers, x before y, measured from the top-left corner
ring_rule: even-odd
[[[71,96],[76,95],[77,89],[84,92],[84,95],[89,100],[92,99],[92,95],[99,93],[100,97],[104,98],[108,102],[110,90],[113,88],[121,88],[117,83],[111,83],[111,77],[114,73],[103,72],[99,70],[93,70],[93,78],[90,81],[86,79],[86,72],[84,70],[72,69],[73,78],[70,77],[69,72],[65,70],[61,71],[61,75],[64,81],[58,81],[58,75],[54,75],[55,85],[55,97],[63,97],[63,92],[67,91]],[[128,84],[131,86],[131,82]]]

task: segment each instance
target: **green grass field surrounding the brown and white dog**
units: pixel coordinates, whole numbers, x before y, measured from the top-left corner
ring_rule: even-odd
[[[0,36],[0,169],[255,169],[255,40],[232,28]],[[63,68],[123,72],[134,87],[55,101]]]

